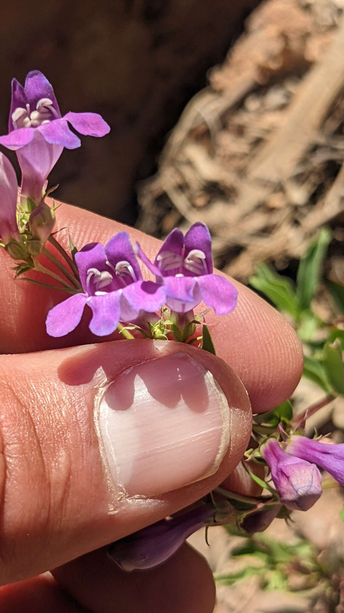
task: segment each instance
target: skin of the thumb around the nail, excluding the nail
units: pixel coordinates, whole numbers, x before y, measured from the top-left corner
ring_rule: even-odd
[[[228,399],[228,450],[209,478],[151,499],[125,498],[100,455],[96,398],[105,378],[181,351],[212,372]],[[2,356],[0,392],[1,584],[61,565],[198,500],[233,471],[250,437],[249,398],[231,368],[174,341]]]

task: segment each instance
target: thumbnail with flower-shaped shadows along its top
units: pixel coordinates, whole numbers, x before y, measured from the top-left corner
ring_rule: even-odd
[[[212,373],[185,353],[121,373],[99,403],[102,456],[118,493],[150,497],[214,474],[230,409]]]

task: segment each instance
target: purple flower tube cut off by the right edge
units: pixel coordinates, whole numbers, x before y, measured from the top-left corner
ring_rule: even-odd
[[[290,455],[302,458],[324,468],[327,473],[344,485],[344,444],[322,443],[306,436],[292,436],[286,446]]]

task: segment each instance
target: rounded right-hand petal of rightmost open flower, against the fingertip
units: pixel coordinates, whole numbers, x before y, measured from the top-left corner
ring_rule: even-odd
[[[204,304],[217,315],[226,315],[236,307],[237,290],[223,276],[202,275],[196,277],[196,282]]]

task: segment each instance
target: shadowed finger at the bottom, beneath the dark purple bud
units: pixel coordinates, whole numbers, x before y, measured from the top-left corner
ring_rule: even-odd
[[[186,544],[157,568],[126,573],[103,550],[53,571],[59,584],[95,613],[212,613],[215,585],[208,564]]]

